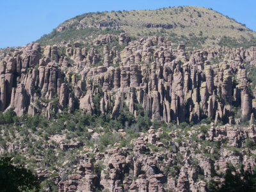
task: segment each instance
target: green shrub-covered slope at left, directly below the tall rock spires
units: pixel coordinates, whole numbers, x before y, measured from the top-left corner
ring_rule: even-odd
[[[126,146],[133,138],[138,138],[139,131],[147,131],[152,124],[161,125],[161,122],[151,123],[150,118],[142,111],[135,119],[127,109],[121,111],[116,119],[111,119],[110,114],[107,116],[99,115],[99,113],[90,115],[89,113],[84,114],[80,110],[75,111],[74,114],[68,113],[68,111],[56,114],[55,118],[51,120],[40,115],[17,117],[13,109],[6,113],[0,113],[0,115],[0,145],[5,150],[3,156],[13,157],[15,164],[27,164],[30,170],[35,170],[38,167],[49,170],[52,172],[51,177],[59,176],[54,172],[56,167],[62,168],[63,175],[60,177],[63,180],[67,179],[67,175],[71,173],[72,166],[77,164],[76,155],[83,151],[83,145],[93,147],[93,144],[99,143],[99,150],[103,152],[109,145],[116,142]],[[99,137],[92,138],[90,129],[97,132]],[[122,138],[118,134],[119,129],[125,129],[126,138]],[[81,147],[65,150],[65,147],[61,147],[61,143],[56,143],[54,140],[56,136],[63,137],[62,143],[76,143]],[[13,143],[13,147],[19,148],[19,150],[8,152],[10,143]],[[23,153],[22,150],[27,152]],[[38,159],[42,159],[42,161],[38,162]],[[63,163],[66,159],[69,161],[64,166]],[[42,189],[50,187],[52,191],[57,190],[51,177],[41,184]]]

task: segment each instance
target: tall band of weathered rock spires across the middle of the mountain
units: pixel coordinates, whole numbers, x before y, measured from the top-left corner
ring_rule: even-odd
[[[79,42],[43,48],[29,44],[8,52],[0,65],[1,111],[15,108],[18,116],[43,113],[51,118],[51,111],[80,108],[93,114],[99,110],[93,97],[100,95],[100,112],[111,118],[124,106],[136,116],[138,105],[152,119],[177,124],[206,117],[239,122],[234,107],[241,108],[238,118],[255,116],[246,72],[255,65],[255,47],[186,51],[184,45],[173,49],[161,36],[131,42],[124,33],[100,35],[94,44],[91,49]]]

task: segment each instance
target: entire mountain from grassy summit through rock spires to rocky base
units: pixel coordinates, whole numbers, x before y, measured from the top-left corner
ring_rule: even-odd
[[[182,9],[196,10],[197,40],[209,33],[200,21],[205,14],[230,23],[196,7],[138,13]],[[210,38],[172,42],[168,31],[178,27],[164,19],[145,27],[147,17],[131,22],[136,11],[116,12],[124,14],[120,22],[103,22],[103,14],[115,12],[87,13],[37,42],[0,50],[1,156],[33,170],[40,191],[254,190],[253,37],[238,42],[231,29],[215,28],[230,36],[210,47]],[[102,21],[92,22],[95,15]],[[158,24],[163,36],[149,35]],[[254,34],[233,26],[244,39]]]

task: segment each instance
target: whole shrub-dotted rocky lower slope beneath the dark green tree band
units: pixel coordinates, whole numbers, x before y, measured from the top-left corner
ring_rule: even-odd
[[[15,128],[16,139],[9,140],[5,150],[33,165],[42,191],[218,191],[228,172],[238,178],[243,172],[255,173],[255,125],[162,128],[148,127],[136,138],[128,129],[108,134],[88,129],[93,145],[86,144],[89,138],[81,143],[62,134],[40,141],[40,129],[29,131],[33,140],[24,143],[24,134]],[[17,138],[20,145],[14,143]]]

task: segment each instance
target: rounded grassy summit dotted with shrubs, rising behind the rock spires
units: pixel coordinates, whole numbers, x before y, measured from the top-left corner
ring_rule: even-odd
[[[164,36],[187,47],[245,47],[255,45],[256,33],[244,24],[211,9],[179,6],[158,10],[97,12],[78,15],[60,24],[36,42],[42,45],[61,41],[84,41],[99,34],[124,31],[133,39]]]

